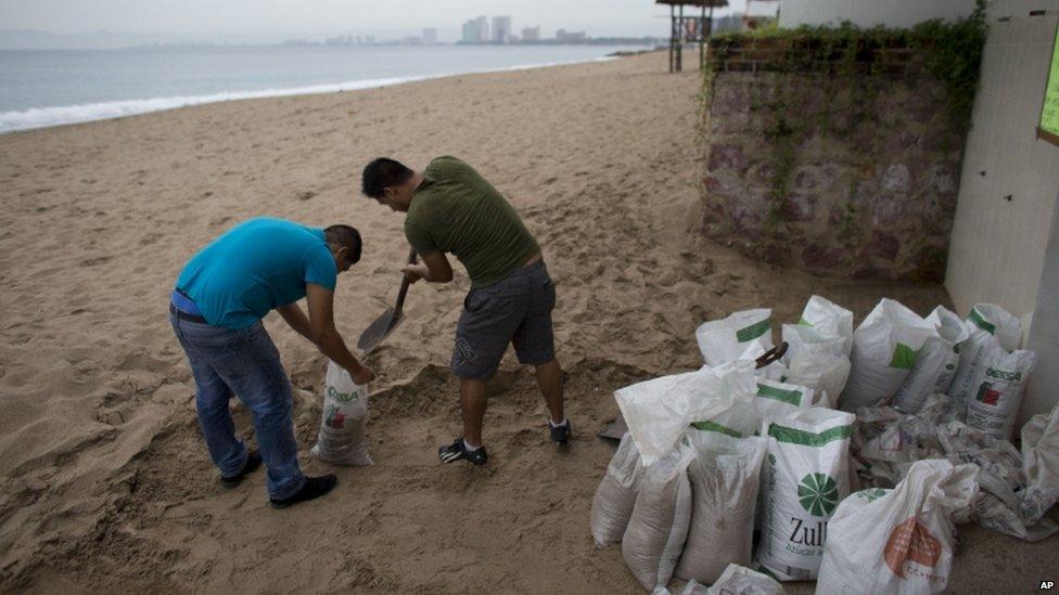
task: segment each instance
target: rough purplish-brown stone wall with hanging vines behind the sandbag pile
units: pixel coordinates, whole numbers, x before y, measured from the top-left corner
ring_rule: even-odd
[[[964,139],[945,86],[908,53],[877,74],[756,57],[706,75],[704,233],[814,272],[941,281]]]

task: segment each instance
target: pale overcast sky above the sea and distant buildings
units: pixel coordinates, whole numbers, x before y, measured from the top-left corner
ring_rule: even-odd
[[[744,10],[747,0],[729,1],[732,7],[718,15]],[[659,17],[667,14],[653,0],[0,0],[0,29],[216,36],[436,27],[444,40],[455,39],[468,18],[510,15],[516,33],[539,25],[548,37],[560,27],[595,36],[662,36],[667,29]]]

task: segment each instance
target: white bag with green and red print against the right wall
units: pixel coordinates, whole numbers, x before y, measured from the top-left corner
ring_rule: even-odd
[[[1036,363],[1033,351],[1020,349],[1008,353],[996,344],[987,348],[984,365],[968,393],[967,425],[1009,440],[1022,405],[1022,393]]]

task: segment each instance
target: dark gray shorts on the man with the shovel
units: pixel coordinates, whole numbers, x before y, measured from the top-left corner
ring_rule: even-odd
[[[519,361],[539,365],[556,358],[551,311],[556,288],[544,260],[523,267],[503,281],[471,289],[456,325],[449,368],[458,378],[488,380],[508,344]]]

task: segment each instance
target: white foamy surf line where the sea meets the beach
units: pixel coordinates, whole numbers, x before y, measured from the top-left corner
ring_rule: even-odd
[[[613,48],[622,48],[614,46]],[[611,47],[601,47],[611,48]],[[658,50],[649,50],[658,51]],[[646,53],[639,52],[639,53]],[[348,91],[361,91],[365,89],[381,89],[396,87],[409,82],[422,82],[426,80],[438,80],[448,77],[486,75],[498,73],[514,73],[520,70],[532,70],[536,68],[552,68],[557,66],[572,66],[576,64],[591,64],[596,62],[607,62],[639,55],[639,53],[623,53],[616,51],[603,56],[586,59],[519,64],[514,66],[501,66],[497,68],[484,68],[475,70],[446,72],[432,75],[412,75],[406,77],[384,77],[373,79],[348,80],[343,82],[309,85],[292,88],[261,89],[256,91],[225,91],[220,93],[207,93],[203,95],[176,95],[163,98],[149,98],[142,100],[116,100],[99,103],[86,103],[76,105],[30,107],[23,111],[10,111],[0,113],[0,135],[12,132],[26,132],[87,124],[93,121],[104,121],[128,116],[140,116],[196,105],[208,105],[212,103],[227,103],[233,101],[245,101],[255,99],[291,98],[304,95],[319,95],[328,93],[342,93]]]

